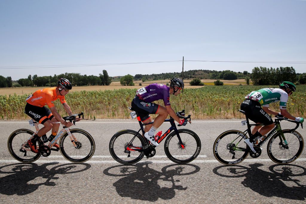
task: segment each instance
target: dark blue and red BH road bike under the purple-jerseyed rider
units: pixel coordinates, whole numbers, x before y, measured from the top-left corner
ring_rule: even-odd
[[[132,110],[132,108],[130,108]],[[176,113],[179,118],[185,119],[191,123],[191,115],[184,117],[185,110]],[[153,122],[142,123],[138,113],[133,111],[132,118],[137,117],[140,129],[138,132],[134,130],[121,130],[113,135],[110,139],[109,149],[110,155],[121,164],[134,164],[140,161],[144,156],[153,157],[156,153],[155,145],[151,144],[144,135],[144,126],[153,124]],[[188,120],[189,119],[189,120]],[[178,164],[186,164],[194,160],[201,150],[201,141],[199,136],[188,129],[177,129],[174,119],[166,119],[170,122],[171,127],[160,137],[155,140],[161,143],[166,138],[164,149],[166,156],[173,162]],[[181,125],[178,125],[181,126]],[[172,132],[174,130],[174,132]],[[142,132],[142,135],[139,132]]]

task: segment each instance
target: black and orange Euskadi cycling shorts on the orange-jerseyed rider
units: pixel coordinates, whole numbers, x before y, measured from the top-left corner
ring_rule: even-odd
[[[29,103],[25,105],[24,113],[40,124],[44,124],[47,120],[51,120],[54,117],[51,110],[46,106],[38,107]]]

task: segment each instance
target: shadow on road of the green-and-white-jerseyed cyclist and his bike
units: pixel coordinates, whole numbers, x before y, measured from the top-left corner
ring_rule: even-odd
[[[271,165],[269,171],[259,169],[263,164],[245,166],[219,166],[213,172],[222,177],[245,177],[241,182],[245,187],[266,197],[279,197],[292,200],[305,200],[306,185],[293,179],[294,176],[306,176],[306,168],[298,165]],[[297,178],[297,177],[296,177]],[[304,182],[306,183],[306,182]]]

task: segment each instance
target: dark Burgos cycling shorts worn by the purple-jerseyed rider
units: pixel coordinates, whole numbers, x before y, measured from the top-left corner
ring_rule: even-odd
[[[136,111],[137,116],[140,116],[140,120],[143,122],[150,118],[149,114],[156,114],[159,109],[158,104],[145,102],[138,96],[134,97],[131,105],[132,109]]]

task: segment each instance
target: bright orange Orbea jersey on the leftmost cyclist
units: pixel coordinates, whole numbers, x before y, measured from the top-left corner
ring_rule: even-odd
[[[41,90],[39,89],[33,94],[29,95],[26,101],[33,106],[43,107],[45,105],[48,105],[49,108],[54,107],[53,102],[58,98],[61,103],[66,103],[65,96],[56,95],[55,89],[56,87],[44,88]]]

